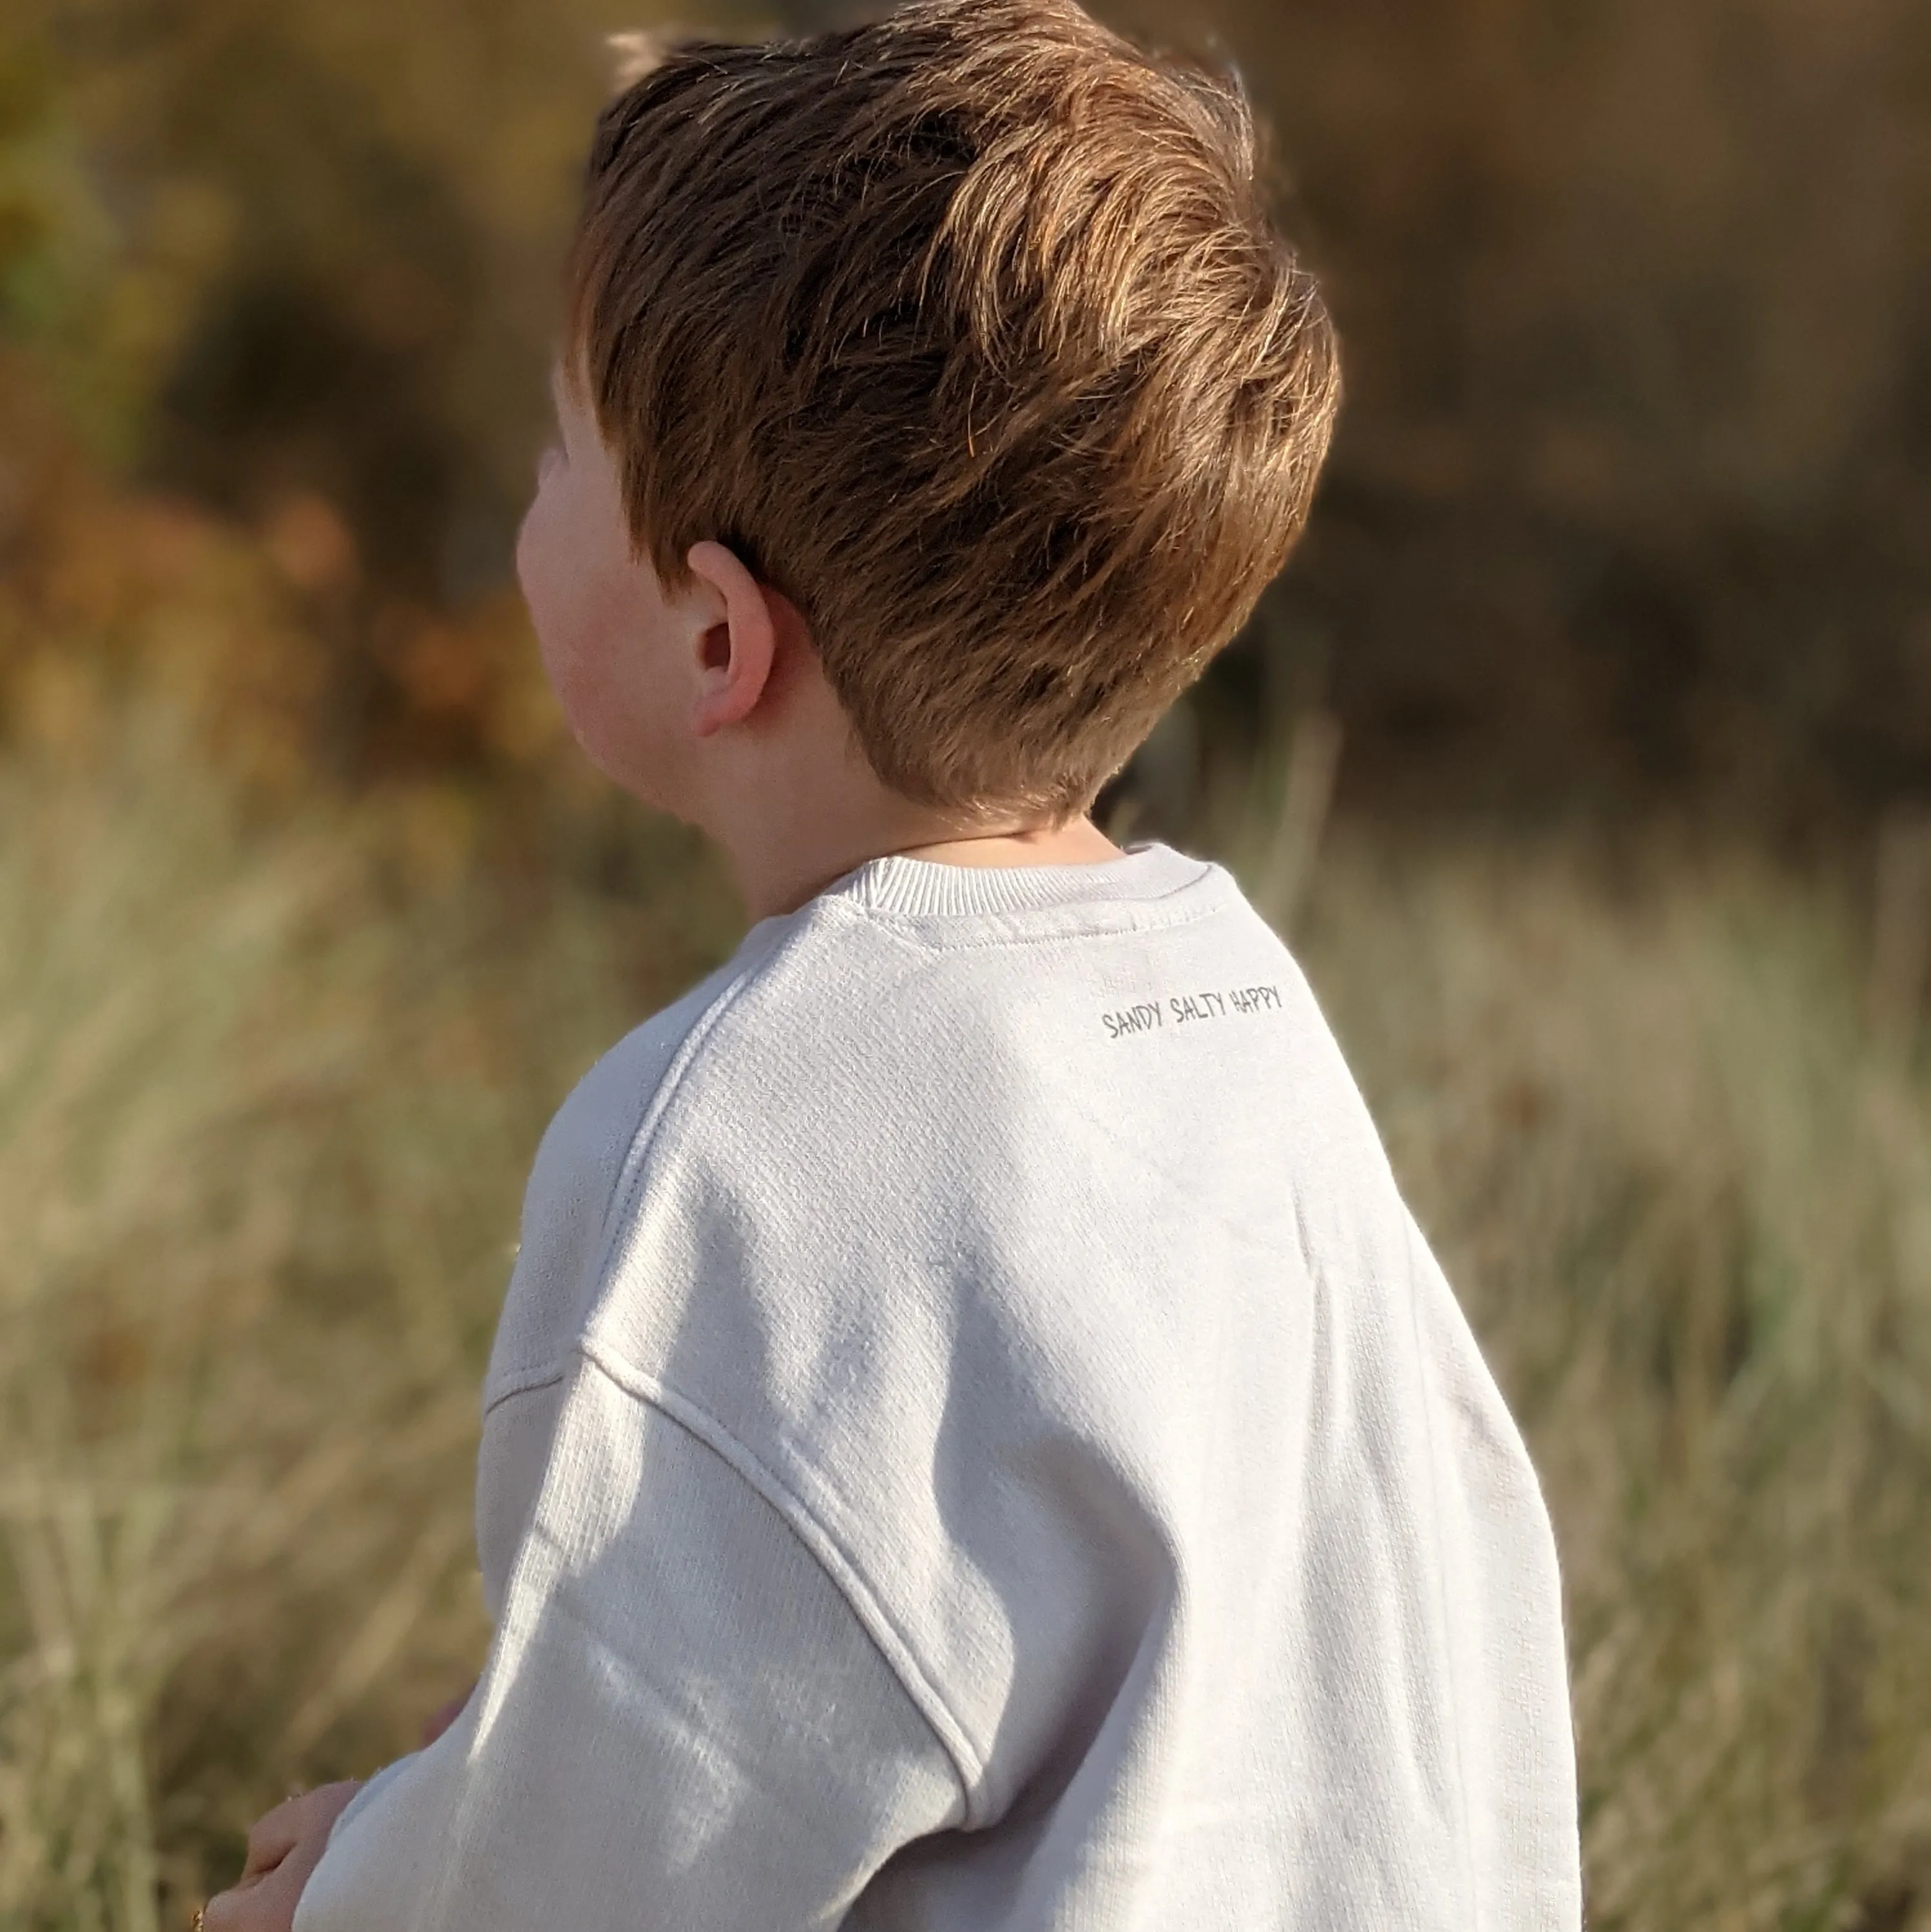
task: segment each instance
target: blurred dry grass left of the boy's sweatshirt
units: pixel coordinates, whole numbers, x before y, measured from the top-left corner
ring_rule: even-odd
[[[473,1667],[477,1383],[546,1113],[720,943],[463,802],[251,833],[180,744],[0,775],[0,1926],[185,1918]],[[713,937],[705,937],[709,931]]]

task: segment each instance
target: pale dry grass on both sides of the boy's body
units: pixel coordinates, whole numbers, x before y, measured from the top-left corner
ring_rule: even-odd
[[[519,900],[452,796],[249,829],[166,742],[0,817],[0,1926],[141,1932],[473,1665],[535,1136],[728,933],[678,842]],[[1365,837],[1305,908],[1556,1509],[1599,1928],[1931,1911],[1931,1105],[1854,933]]]

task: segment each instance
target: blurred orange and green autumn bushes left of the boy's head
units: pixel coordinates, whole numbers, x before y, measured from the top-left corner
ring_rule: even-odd
[[[10,17],[0,717],[44,711],[41,611],[81,618],[64,678],[137,665],[214,711],[239,684],[319,779],[490,777],[556,744],[510,545],[601,62],[589,8]],[[160,607],[216,553],[253,583],[209,665],[209,628]],[[56,578],[85,611],[48,609]]]

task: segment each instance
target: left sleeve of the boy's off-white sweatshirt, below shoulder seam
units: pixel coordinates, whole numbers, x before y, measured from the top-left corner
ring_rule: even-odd
[[[342,1816],[295,1932],[832,1928],[962,1814],[776,1509],[577,1360],[477,1692]]]

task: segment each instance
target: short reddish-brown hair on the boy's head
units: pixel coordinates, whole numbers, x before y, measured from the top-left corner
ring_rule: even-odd
[[[1083,810],[1280,568],[1334,417],[1238,85],[1070,0],[633,71],[570,344],[639,547],[788,595],[908,798]]]

